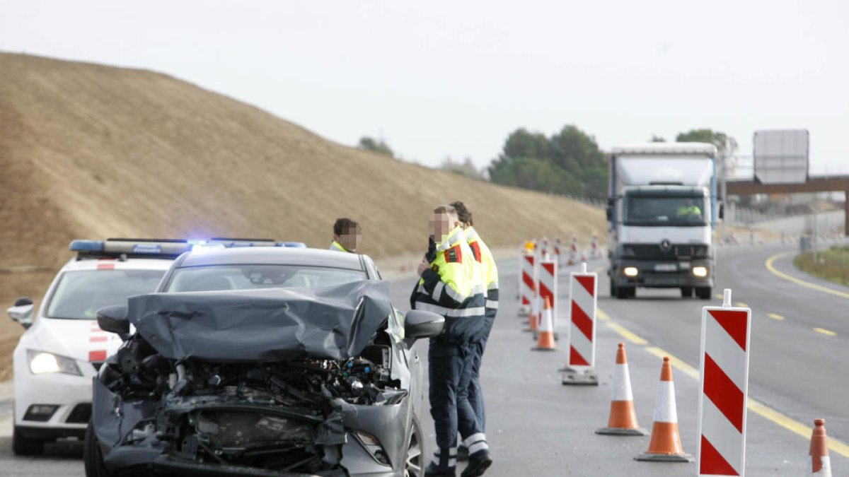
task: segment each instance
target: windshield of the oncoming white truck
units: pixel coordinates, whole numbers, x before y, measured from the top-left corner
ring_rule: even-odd
[[[627,196],[625,225],[698,227],[707,225],[705,198],[698,196]]]

